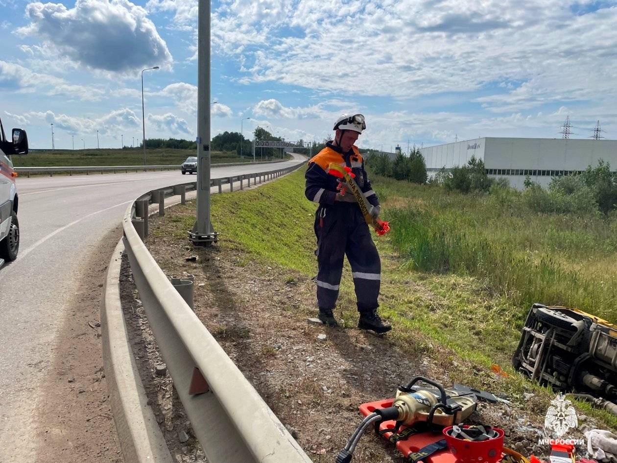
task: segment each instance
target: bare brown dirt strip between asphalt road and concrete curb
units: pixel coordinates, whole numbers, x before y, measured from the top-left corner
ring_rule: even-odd
[[[118,227],[93,248],[81,265],[73,296],[55,346],[54,361],[41,385],[44,401],[36,406],[43,436],[37,463],[122,462],[103,370],[102,287],[109,255],[122,231]]]

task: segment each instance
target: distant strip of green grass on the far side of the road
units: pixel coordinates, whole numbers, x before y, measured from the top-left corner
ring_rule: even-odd
[[[187,157],[196,156],[194,149],[155,148],[146,150],[148,165],[179,165]],[[250,162],[252,157],[240,158],[235,152],[213,151],[213,164]],[[33,151],[27,156],[13,156],[15,167],[80,167],[86,165],[143,165],[143,149],[76,149]]]

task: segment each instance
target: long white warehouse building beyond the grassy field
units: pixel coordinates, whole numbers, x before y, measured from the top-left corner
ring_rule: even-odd
[[[523,189],[527,175],[548,186],[558,175],[575,175],[595,166],[600,159],[617,170],[617,140],[572,138],[475,138],[420,148],[429,176],[442,168],[466,164],[472,156],[484,161],[491,178],[507,178],[514,188]]]

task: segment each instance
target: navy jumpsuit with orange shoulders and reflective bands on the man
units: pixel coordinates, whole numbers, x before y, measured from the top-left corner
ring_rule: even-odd
[[[317,303],[320,309],[334,309],[339,295],[343,259],[347,256],[354,277],[358,311],[371,312],[379,306],[381,261],[358,204],[334,201],[337,178],[328,175],[331,162],[350,167],[368,202],[373,206],[379,205],[356,146],[343,153],[338,146],[326,143],[326,148],[310,159],[304,177],[306,197],[319,204],[315,213]]]

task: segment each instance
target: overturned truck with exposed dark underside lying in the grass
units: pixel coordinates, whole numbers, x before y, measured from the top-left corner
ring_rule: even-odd
[[[617,327],[568,307],[534,304],[512,364],[553,390],[617,415]]]

